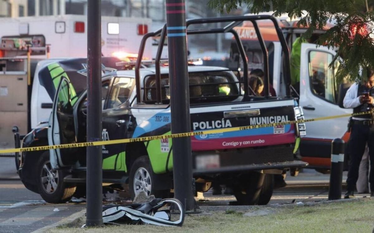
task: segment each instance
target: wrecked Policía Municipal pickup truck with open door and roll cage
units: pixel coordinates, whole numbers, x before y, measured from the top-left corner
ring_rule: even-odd
[[[270,19],[278,27],[271,16],[196,19],[187,21],[187,25],[229,22],[226,27],[212,31],[232,33],[243,55],[243,46],[233,27],[245,20],[261,19]],[[187,34],[194,33],[211,33],[211,30],[187,31]],[[145,41],[159,35],[156,67],[140,68]],[[166,27],[144,36],[135,71],[116,71],[102,77],[102,140],[171,134],[169,69],[159,66],[165,36]],[[279,37],[284,41],[281,32]],[[261,34],[258,38],[261,42]],[[283,51],[288,59],[286,44]],[[55,67],[59,67],[58,62],[46,69]],[[188,66],[193,131],[303,119],[289,88],[285,97],[252,96],[246,65],[244,71],[244,77],[240,77],[237,69]],[[41,81],[53,98],[52,114],[49,122],[40,124],[24,137],[22,147],[86,142],[86,90],[78,90],[72,78],[62,74],[53,80],[55,85]],[[52,82],[50,78],[45,80]],[[285,85],[289,86],[289,66],[285,67]],[[269,93],[268,80],[265,88]],[[305,135],[304,124],[191,137],[196,191],[208,191],[212,182],[226,184],[232,187],[239,204],[267,204],[273,193],[273,174],[307,165],[295,161],[292,153],[295,138],[300,135]],[[141,191],[156,197],[171,194],[171,139],[105,145],[102,155],[104,185],[123,189],[128,184],[132,198]],[[40,193],[47,202],[84,196],[86,148],[23,152],[19,175],[28,189]]]

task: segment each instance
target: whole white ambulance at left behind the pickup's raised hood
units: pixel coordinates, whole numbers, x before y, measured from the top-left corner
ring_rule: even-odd
[[[67,58],[86,58],[87,26],[84,15],[1,19],[0,149],[14,147],[12,131],[24,135],[48,119],[52,100],[40,86],[39,71]],[[101,52],[107,57],[102,59],[103,74],[120,69],[115,66],[115,59],[108,57],[137,58],[141,39],[148,28],[151,30],[151,19],[102,17]],[[152,44],[148,41],[143,59],[151,58]],[[86,64],[83,59],[83,71]]]

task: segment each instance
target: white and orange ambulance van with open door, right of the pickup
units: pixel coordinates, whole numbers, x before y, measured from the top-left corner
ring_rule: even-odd
[[[292,43],[307,28],[297,27],[298,21],[285,15],[277,19],[291,53]],[[276,38],[275,29],[271,27],[272,22],[259,22],[258,26],[268,50],[270,84],[277,96],[284,96],[286,90],[281,43]],[[313,35],[318,37],[331,26],[327,24],[324,29],[316,30]],[[235,30],[243,42],[248,58],[248,68],[264,70],[263,53],[252,23],[243,22]],[[230,50],[230,62],[241,62],[237,59],[238,50],[233,44],[234,42]],[[335,55],[333,49],[324,46],[317,47],[312,43],[301,44],[300,84],[295,85],[294,96],[299,99],[298,104],[303,109],[305,119],[352,113],[352,109],[338,106],[339,84],[335,81],[335,74],[339,63],[335,62],[334,67],[328,67]],[[309,168],[315,168],[321,172],[330,169],[331,142],[335,138],[348,141],[347,124],[348,117],[306,123],[308,133],[301,139],[300,155],[303,161],[309,163]]]

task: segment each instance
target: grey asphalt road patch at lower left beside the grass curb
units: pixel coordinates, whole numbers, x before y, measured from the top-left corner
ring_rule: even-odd
[[[14,158],[0,158],[0,233],[33,232],[83,208],[74,203],[46,204],[19,180]]]

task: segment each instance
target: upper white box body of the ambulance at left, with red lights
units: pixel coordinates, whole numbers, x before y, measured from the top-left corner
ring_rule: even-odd
[[[85,15],[4,18],[1,19],[0,27],[1,49],[14,46],[16,56],[25,55],[19,50],[25,50],[27,46],[33,48],[34,55],[46,55],[43,49],[36,51],[37,48],[47,45],[50,47],[50,58],[87,56],[87,16]],[[137,54],[141,38],[148,32],[148,28],[151,28],[151,19],[103,16],[101,18],[102,55]],[[144,57],[151,58],[151,56],[151,42],[149,42],[144,50]]]

